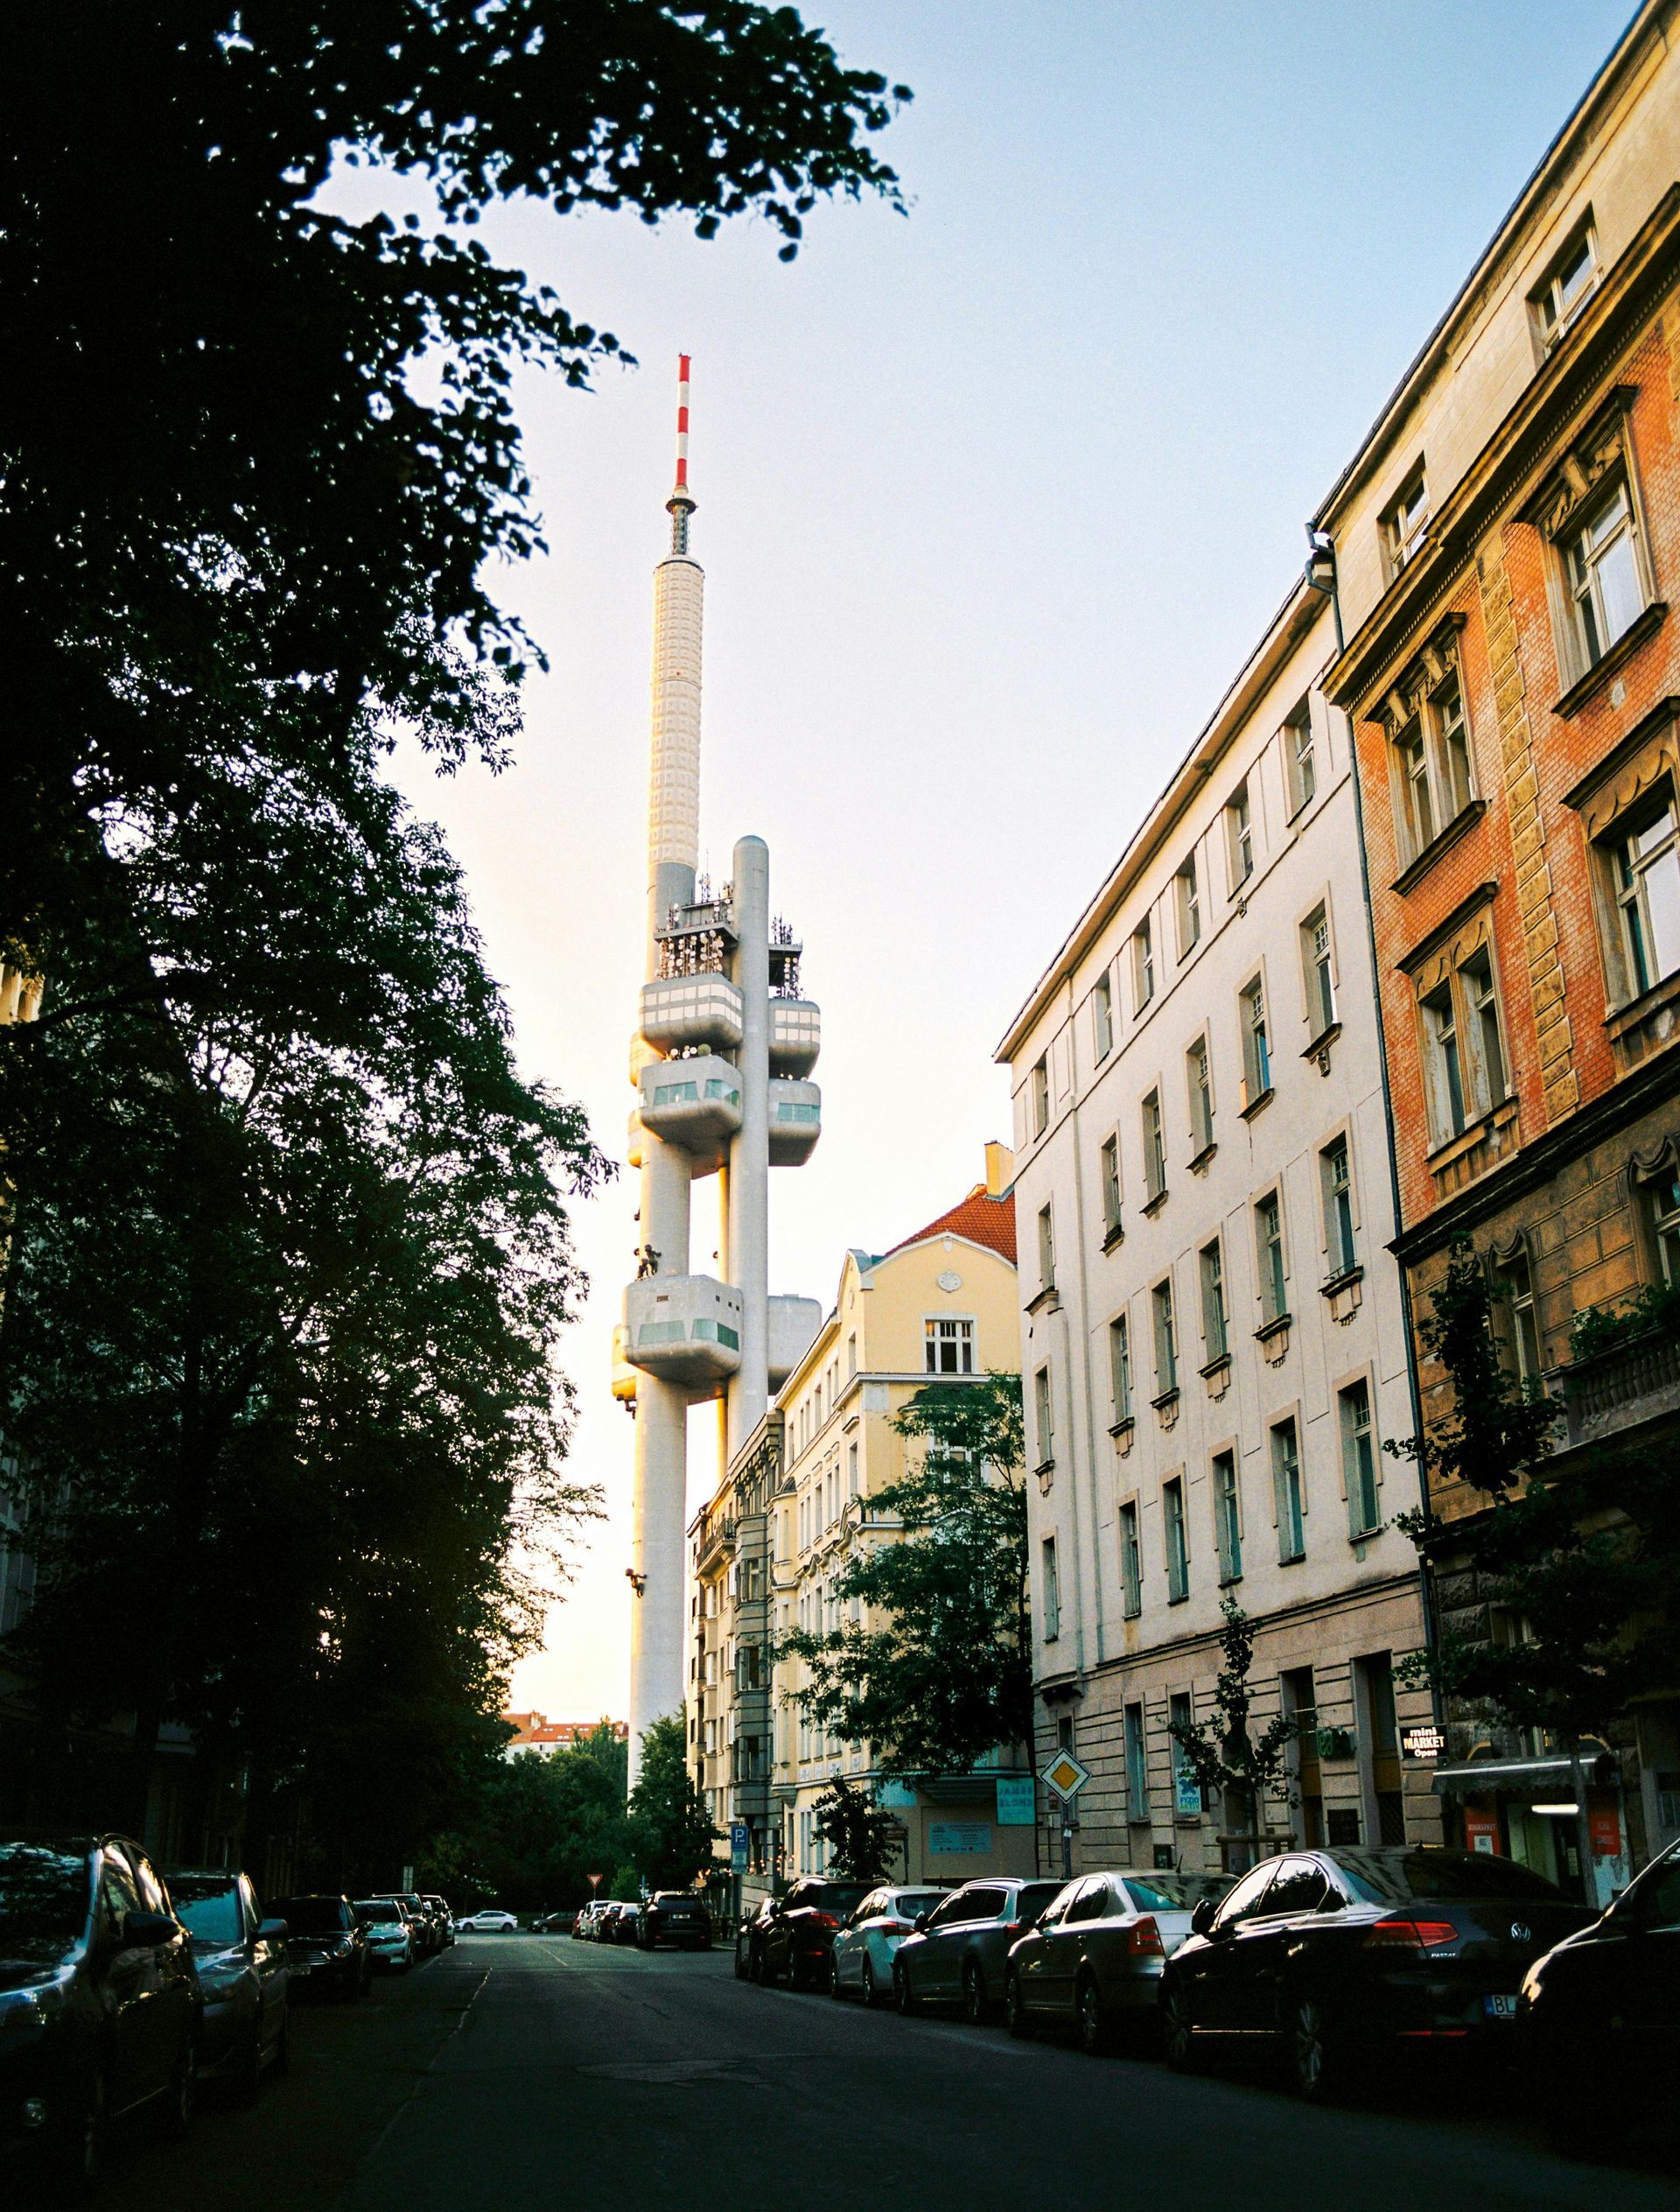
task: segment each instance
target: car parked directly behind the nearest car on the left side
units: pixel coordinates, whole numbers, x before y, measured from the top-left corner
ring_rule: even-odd
[[[285,2073],[292,2013],[287,2006],[285,1920],[263,1918],[250,1876],[228,1869],[172,1867],[175,1918],[192,1938],[203,1991],[199,2079],[228,2081],[254,2097],[263,2073]]]

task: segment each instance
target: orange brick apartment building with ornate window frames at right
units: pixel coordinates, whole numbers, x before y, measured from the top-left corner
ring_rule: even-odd
[[[1680,1447],[1680,1338],[1638,1325],[1660,1305],[1640,1292],[1680,1283],[1673,31],[1673,4],[1640,9],[1315,515],[1346,633],[1326,692],[1357,730],[1397,1254],[1428,1314],[1448,1248],[1474,1243],[1510,1365],[1563,1407],[1563,1453]],[[1572,1347],[1585,1314],[1631,1301],[1620,1343]],[[1421,1383],[1441,1411],[1443,1378]],[[1439,1604],[1521,1635],[1468,1568]],[[1556,1816],[1576,1812],[1558,1750],[1455,1717],[1450,1829],[1607,1898],[1680,1834],[1680,1701],[1596,1747],[1589,1820]]]

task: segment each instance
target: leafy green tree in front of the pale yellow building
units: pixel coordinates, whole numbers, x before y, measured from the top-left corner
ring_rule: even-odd
[[[884,1624],[791,1630],[778,1655],[809,1672],[800,1712],[873,1745],[882,1774],[966,1772],[1032,1741],[1021,1378],[928,1383],[893,1427],[922,1464],[869,1509],[904,1535],[860,1546],[833,1582]]]

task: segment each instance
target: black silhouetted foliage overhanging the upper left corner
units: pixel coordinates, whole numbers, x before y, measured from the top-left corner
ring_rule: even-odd
[[[749,0],[13,0],[0,86],[0,947],[82,896],[84,825],[208,761],[329,783],[369,703],[506,757],[511,374],[617,341],[486,208],[756,212],[791,254],[820,195],[895,197],[884,82]],[[338,161],[433,219],[325,212]]]

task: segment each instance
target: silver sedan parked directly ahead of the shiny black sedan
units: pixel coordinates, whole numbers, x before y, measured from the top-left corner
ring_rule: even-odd
[[[1161,1969],[1189,1936],[1203,1900],[1218,1905],[1227,1874],[1085,1874],[1050,1900],[1010,1947],[1004,1966],[1004,2017],[1010,2035],[1039,2022],[1079,2028],[1085,2051],[1105,2051],[1130,2028],[1154,2035]]]

